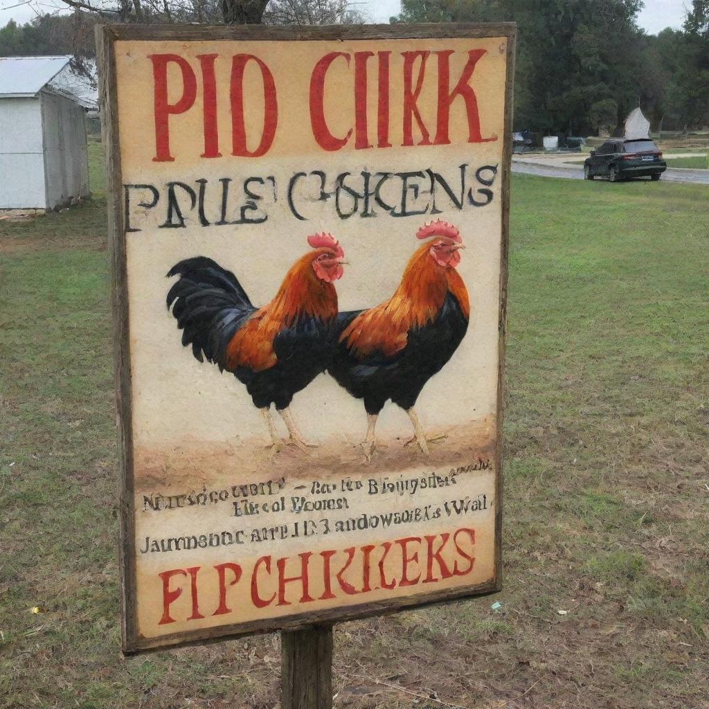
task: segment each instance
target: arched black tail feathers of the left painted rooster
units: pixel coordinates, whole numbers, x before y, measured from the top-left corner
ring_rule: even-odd
[[[167,294],[167,308],[182,330],[182,345],[194,357],[226,366],[226,348],[255,311],[235,275],[212,259],[198,256],[175,264],[167,277],[179,276]]]

